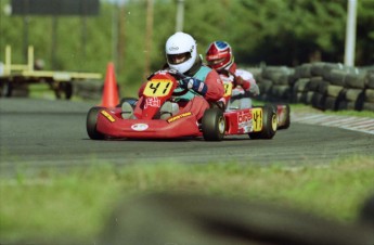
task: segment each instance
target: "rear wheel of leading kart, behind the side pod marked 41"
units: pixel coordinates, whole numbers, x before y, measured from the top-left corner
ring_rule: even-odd
[[[272,139],[278,128],[278,116],[274,106],[267,104],[262,107],[262,130],[249,132],[250,139]]]

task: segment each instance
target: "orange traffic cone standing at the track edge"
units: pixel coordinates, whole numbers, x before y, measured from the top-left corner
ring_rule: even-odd
[[[106,77],[104,81],[104,90],[101,106],[116,107],[118,103],[119,98],[114,64],[109,62],[106,68]]]

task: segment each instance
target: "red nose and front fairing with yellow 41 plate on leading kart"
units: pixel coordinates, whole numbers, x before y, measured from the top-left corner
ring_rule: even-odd
[[[160,106],[172,96],[178,81],[168,73],[158,73],[145,86],[143,108],[138,119],[122,119],[121,108],[102,108],[98,115],[96,130],[109,138],[171,139],[198,137],[197,120],[192,113],[153,119]]]

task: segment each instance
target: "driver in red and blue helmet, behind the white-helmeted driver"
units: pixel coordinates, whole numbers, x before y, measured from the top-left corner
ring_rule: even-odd
[[[260,90],[252,73],[236,68],[230,44],[225,41],[211,42],[206,51],[206,61],[209,67],[220,74],[223,81],[233,83],[231,100],[223,101],[227,108],[252,107],[250,96],[259,95]]]

